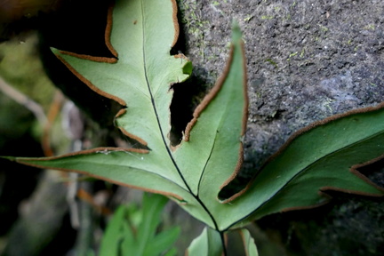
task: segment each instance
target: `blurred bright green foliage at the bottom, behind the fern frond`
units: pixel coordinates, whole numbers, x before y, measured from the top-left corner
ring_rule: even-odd
[[[117,208],[101,241],[100,256],[156,256],[164,252],[174,255],[171,247],[179,237],[180,228],[170,228],[156,234],[167,201],[164,196],[144,194],[142,209],[132,212],[126,205]],[[140,217],[139,223],[134,220],[137,215]]]

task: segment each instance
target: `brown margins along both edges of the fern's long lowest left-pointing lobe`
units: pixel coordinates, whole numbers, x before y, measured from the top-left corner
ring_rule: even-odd
[[[60,159],[60,158],[63,158],[63,157],[91,155],[91,154],[94,154],[94,153],[101,153],[102,154],[103,152],[109,152],[109,153],[110,152],[132,152],[132,153],[148,154],[149,150],[147,150],[147,149],[138,149],[138,148],[111,148],[111,147],[92,148],[92,149],[87,149],[87,150],[83,150],[83,151],[77,151],[77,152],[72,152],[72,153],[64,154],[64,155],[61,155],[61,156],[52,156],[52,157],[40,158],[40,159],[38,159],[38,161],[44,162],[44,161],[51,161],[51,160]],[[14,161],[16,163],[19,163],[19,164],[25,164],[25,165],[36,167],[36,168],[40,168],[40,169],[47,169],[47,168],[49,168],[49,167],[44,166],[44,165],[31,164],[31,163],[28,162],[28,160],[36,161],[36,158],[27,158],[27,157],[5,157],[5,158],[7,158],[9,160],[12,160],[12,161]],[[62,172],[76,172],[76,173],[84,174],[86,176],[89,176],[89,177],[92,177],[92,178],[95,178],[95,179],[98,179],[98,180],[105,180],[105,181],[108,181],[110,183],[113,183],[113,184],[116,184],[116,185],[119,185],[119,186],[140,189],[140,190],[143,190],[143,191],[146,191],[146,192],[149,192],[149,193],[160,194],[160,195],[163,195],[163,196],[171,196],[171,197],[177,199],[178,201],[180,201],[181,204],[184,201],[184,199],[181,196],[177,195],[177,194],[168,193],[168,192],[164,192],[164,191],[160,191],[160,190],[156,190],[156,189],[151,189],[151,188],[141,188],[139,186],[134,186],[134,185],[126,184],[126,183],[123,183],[123,182],[120,182],[120,181],[117,181],[117,180],[110,180],[108,178],[104,178],[102,176],[94,175],[94,174],[88,173],[88,172],[83,172],[83,171],[78,171],[78,170],[73,170],[73,169],[67,169],[67,168],[61,168],[61,167],[54,167],[52,169],[53,170],[62,171]]]

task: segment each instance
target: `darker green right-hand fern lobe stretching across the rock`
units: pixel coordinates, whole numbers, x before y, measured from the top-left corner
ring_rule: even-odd
[[[231,204],[242,212],[228,212],[228,219],[233,218],[228,227],[274,212],[325,204],[330,200],[327,190],[384,196],[383,188],[357,171],[383,154],[384,103],[311,124],[264,164],[243,195],[232,198]]]

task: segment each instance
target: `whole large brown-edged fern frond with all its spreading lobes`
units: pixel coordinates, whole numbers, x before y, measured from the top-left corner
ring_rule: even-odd
[[[384,156],[382,103],[309,125],[244,191],[221,196],[243,162],[248,98],[242,34],[234,26],[227,67],[196,108],[184,140],[172,148],[171,86],[191,73],[184,55],[169,53],[179,31],[176,10],[173,0],[116,1],[106,29],[116,59],[52,50],[92,90],[126,106],[116,114],[116,125],[148,150],[94,148],[51,158],[9,158],[169,196],[221,234],[273,212],[324,204],[328,189],[384,195],[356,170]],[[253,253],[252,246],[247,250]]]

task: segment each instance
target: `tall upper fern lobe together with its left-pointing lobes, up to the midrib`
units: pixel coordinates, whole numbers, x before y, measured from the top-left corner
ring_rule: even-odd
[[[172,84],[186,80],[191,72],[191,64],[183,55],[169,53],[179,35],[176,11],[175,1],[116,1],[106,31],[107,44],[116,59],[52,49],[92,90],[127,105],[116,114],[116,125],[149,150],[94,148],[49,161],[20,162],[86,173],[193,201],[172,159],[168,139]]]

